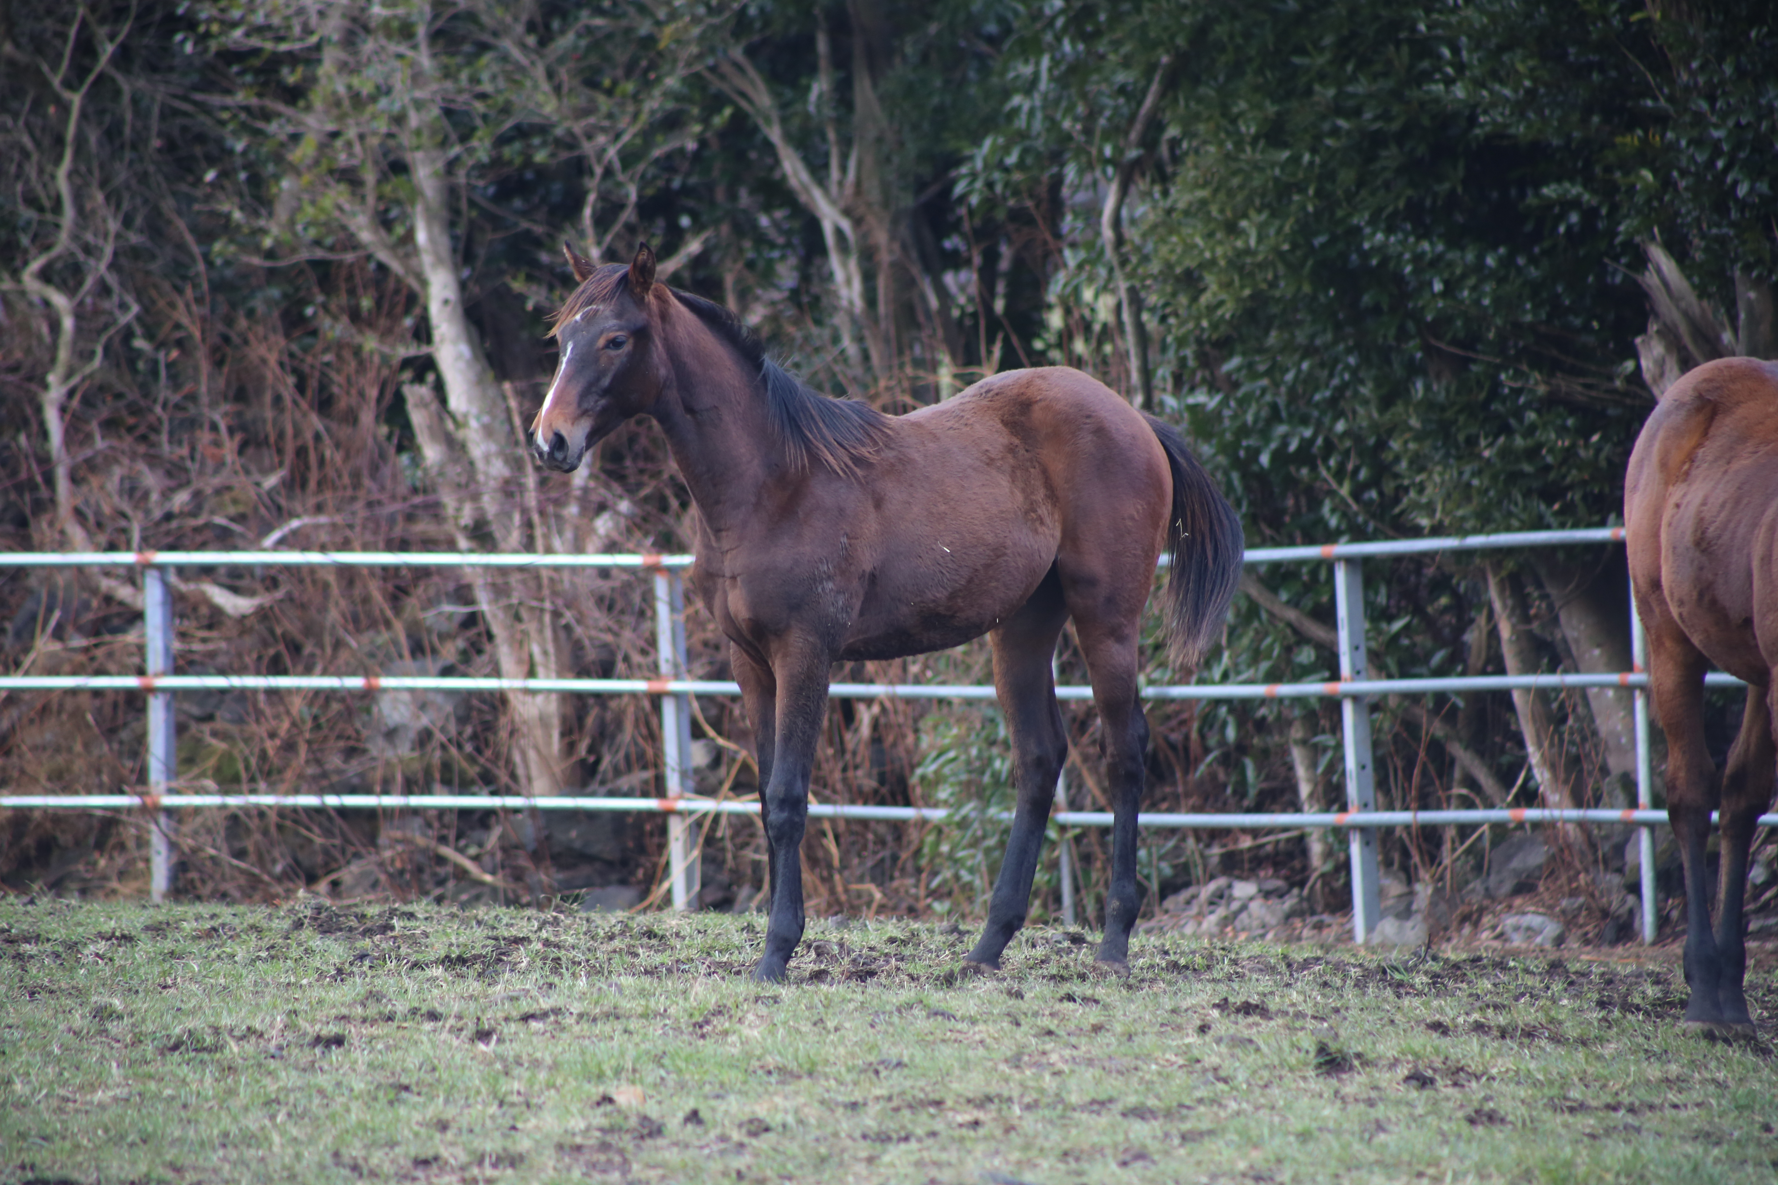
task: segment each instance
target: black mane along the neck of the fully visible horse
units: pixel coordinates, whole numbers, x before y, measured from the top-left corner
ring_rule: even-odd
[[[791,471],[807,469],[813,457],[841,476],[855,476],[859,462],[877,455],[889,426],[887,416],[869,403],[836,400],[813,391],[766,357],[759,334],[715,300],[677,288],[672,295],[750,366],[759,368],[766,410]]]

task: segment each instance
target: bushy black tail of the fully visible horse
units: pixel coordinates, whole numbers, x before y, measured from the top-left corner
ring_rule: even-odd
[[[1229,616],[1229,602],[1241,583],[1246,538],[1234,506],[1204,473],[1179,430],[1154,416],[1145,419],[1173,471],[1173,515],[1166,524],[1166,545],[1173,553],[1166,625],[1173,634],[1173,666],[1189,677]]]

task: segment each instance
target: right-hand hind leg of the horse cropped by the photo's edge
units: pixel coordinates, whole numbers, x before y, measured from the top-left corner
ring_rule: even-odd
[[[1773,780],[1778,775],[1774,741],[1778,741],[1778,696],[1773,695],[1771,686],[1750,686],[1748,707],[1741,718],[1741,736],[1735,737],[1735,746],[1728,752],[1728,766],[1723,771],[1721,805],[1723,858],[1716,950],[1721,961],[1718,998],[1723,1016],[1718,1025],[1732,1036],[1755,1036],[1753,1018],[1748,1014],[1748,1000],[1742,991],[1748,950],[1741,908],[1748,890],[1748,853],[1753,849],[1758,817],[1771,805]]]

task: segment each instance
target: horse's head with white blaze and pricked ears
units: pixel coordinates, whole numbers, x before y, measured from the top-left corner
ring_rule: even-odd
[[[532,421],[532,451],[544,465],[571,473],[594,444],[660,394],[654,357],[654,251],[647,243],[624,265],[594,266],[564,245],[580,288],[557,314],[562,345],[549,394]]]

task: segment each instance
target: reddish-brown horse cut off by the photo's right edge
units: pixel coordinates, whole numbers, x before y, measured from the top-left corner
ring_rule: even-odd
[[[1636,611],[1668,737],[1668,812],[1686,863],[1686,1023],[1751,1034],[1741,906],[1748,849],[1778,773],[1778,366],[1734,357],[1661,398],[1623,487]],[[1718,782],[1703,744],[1703,673],[1748,682],[1741,736]],[[1721,901],[1705,867],[1721,808]]]

